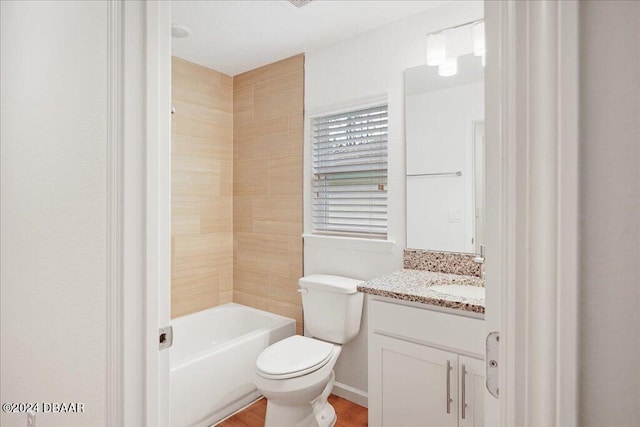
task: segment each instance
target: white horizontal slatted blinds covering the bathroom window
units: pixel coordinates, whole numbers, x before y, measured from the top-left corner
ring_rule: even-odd
[[[313,231],[386,238],[387,106],[313,119]]]

